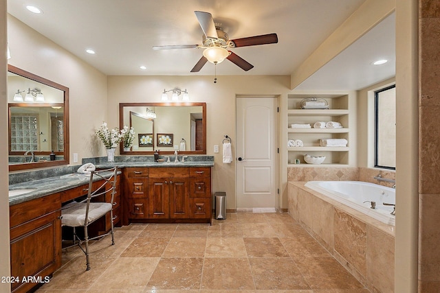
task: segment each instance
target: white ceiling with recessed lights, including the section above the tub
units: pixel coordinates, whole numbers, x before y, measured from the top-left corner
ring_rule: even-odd
[[[290,75],[363,2],[8,0],[8,12],[106,75],[214,75],[210,63],[199,73],[190,73],[201,58],[201,49],[151,49],[155,45],[201,44],[203,32],[194,11],[206,11],[231,39],[278,34],[277,44],[232,49],[254,65],[253,69],[243,71],[225,60],[217,65],[217,75]],[[29,4],[41,8],[43,14],[26,10]],[[394,30],[394,17],[390,16],[299,88],[361,89],[394,76]],[[96,54],[85,53],[89,48]],[[373,69],[370,63],[377,56],[389,56],[393,62]],[[147,69],[141,70],[140,65]]]

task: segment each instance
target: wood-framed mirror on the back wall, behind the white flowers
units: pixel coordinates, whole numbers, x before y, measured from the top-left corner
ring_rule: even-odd
[[[120,103],[119,127],[133,127],[133,146],[120,154],[206,154],[206,103]]]

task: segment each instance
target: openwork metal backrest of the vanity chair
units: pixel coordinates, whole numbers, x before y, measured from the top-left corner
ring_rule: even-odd
[[[87,191],[87,198],[83,202],[87,202],[87,208],[85,212],[85,219],[87,225],[87,218],[89,217],[89,205],[93,198],[102,196],[102,202],[108,202],[107,198],[110,196],[110,203],[113,206],[113,200],[116,190],[116,175],[118,167],[112,167],[109,169],[95,170],[90,173],[89,178],[89,190]]]

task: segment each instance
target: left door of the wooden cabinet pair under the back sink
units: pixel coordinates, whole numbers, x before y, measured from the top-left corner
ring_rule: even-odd
[[[168,219],[169,205],[169,179],[150,178],[148,180],[148,213],[151,219]]]

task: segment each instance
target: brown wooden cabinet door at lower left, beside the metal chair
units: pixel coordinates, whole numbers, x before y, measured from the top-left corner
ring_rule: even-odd
[[[50,276],[61,266],[61,211],[54,211],[10,230],[11,276]],[[12,283],[12,292],[27,292],[35,283]]]

